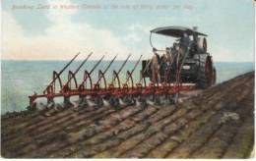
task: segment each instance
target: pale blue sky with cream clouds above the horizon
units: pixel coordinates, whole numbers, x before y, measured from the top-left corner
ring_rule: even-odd
[[[2,60],[152,56],[150,30],[198,27],[215,61],[254,61],[252,0],[2,0]],[[62,7],[62,8],[61,8]],[[164,49],[173,38],[153,35]]]

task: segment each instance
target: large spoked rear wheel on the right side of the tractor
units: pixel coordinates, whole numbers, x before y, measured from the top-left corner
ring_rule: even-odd
[[[213,66],[212,58],[207,56],[201,57],[198,71],[198,86],[200,88],[208,88],[216,82],[216,70]]]

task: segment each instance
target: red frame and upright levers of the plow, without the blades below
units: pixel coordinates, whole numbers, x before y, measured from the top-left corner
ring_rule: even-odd
[[[142,56],[141,56],[142,57]],[[101,62],[102,58],[96,63],[96,66],[91,70],[91,72],[88,72],[85,70],[84,72],[84,78],[82,83],[78,84],[77,79],[76,79],[76,74],[82,67],[82,64],[84,65],[86,61],[84,61],[79,68],[76,70],[75,73],[69,71],[68,73],[68,81],[62,85],[62,80],[60,78],[60,74],[57,72],[53,72],[53,77],[52,77],[52,82],[47,85],[45,90],[43,91],[42,94],[32,94],[29,96],[30,98],[30,105],[34,102],[35,99],[37,98],[42,98],[45,97],[47,98],[47,102],[53,102],[53,99],[55,97],[64,97],[69,98],[70,96],[75,96],[78,95],[80,97],[85,97],[87,95],[91,96],[104,96],[104,95],[112,95],[116,97],[121,97],[121,96],[138,96],[138,95],[171,95],[178,93],[179,91],[188,91],[192,90],[195,88],[195,85],[184,85],[180,82],[180,67],[178,68],[178,72],[176,73],[176,81],[174,83],[167,83],[167,82],[162,82],[162,83],[153,83],[150,82],[147,85],[146,78],[143,77],[143,72],[141,71],[141,78],[139,82],[134,82],[133,78],[133,73],[135,69],[137,68],[140,60],[137,61],[135,64],[135,67],[132,71],[127,71],[126,72],[126,81],[124,83],[121,83],[121,80],[119,78],[120,70],[116,72],[115,70],[113,71],[113,80],[111,83],[107,84],[106,78],[105,78],[105,73],[108,71],[109,67],[115,60],[116,56],[110,61],[108,66],[104,71],[99,70],[98,71],[98,80],[96,83],[93,82],[92,79],[92,73],[96,69],[96,66]],[[88,58],[87,58],[88,59]],[[87,60],[86,59],[86,60]],[[123,66],[121,66],[122,68]],[[167,74],[167,73],[166,73]],[[56,80],[58,80],[59,85],[61,87],[60,92],[56,93]],[[72,80],[75,83],[75,88],[72,87]],[[114,80],[117,80],[117,85],[113,83]],[[89,84],[89,86],[88,86]]]

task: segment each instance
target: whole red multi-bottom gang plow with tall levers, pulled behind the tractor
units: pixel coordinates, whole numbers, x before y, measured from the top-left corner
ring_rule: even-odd
[[[179,78],[177,78],[174,83],[153,83],[151,81],[147,83],[147,79],[144,75],[148,68],[150,68],[151,62],[147,63],[146,69],[140,71],[139,81],[134,80],[134,73],[141,62],[142,55],[136,61],[134,67],[126,72],[126,79],[124,81],[121,80],[120,74],[123,72],[123,68],[131,55],[128,55],[118,70],[112,72],[112,79],[110,79],[110,81],[106,79],[105,75],[117,55],[112,58],[105,69],[98,71],[96,81],[93,80],[92,75],[95,74],[96,67],[98,67],[105,56],[102,56],[90,71],[84,71],[83,80],[79,83],[76,76],[79,71],[81,71],[82,67],[86,65],[93,53],[90,53],[74,72],[69,71],[68,80],[63,83],[63,80],[61,80],[62,74],[78,55],[80,55],[80,53],[75,55],[59,73],[56,71],[53,72],[52,80],[43,90],[42,94],[34,93],[29,96],[31,107],[36,107],[36,99],[38,98],[46,98],[47,107],[52,106],[54,105],[54,98],[56,97],[64,98],[64,107],[75,106],[75,103],[70,100],[71,96],[79,96],[77,104],[80,106],[94,106],[96,108],[102,106],[119,107],[134,104],[144,106],[149,104],[169,104],[177,101],[180,91],[195,88],[195,85],[182,84]],[[169,74],[166,73],[166,75]],[[179,77],[178,74],[176,74],[176,76]],[[57,84],[59,86],[57,86]]]

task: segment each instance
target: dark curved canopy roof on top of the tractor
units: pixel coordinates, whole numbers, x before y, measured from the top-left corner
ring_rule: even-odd
[[[207,36],[207,34],[198,32],[189,27],[157,27],[152,29],[151,32],[173,37],[182,37],[183,33],[187,33],[188,35],[193,35],[195,33],[197,35]]]

